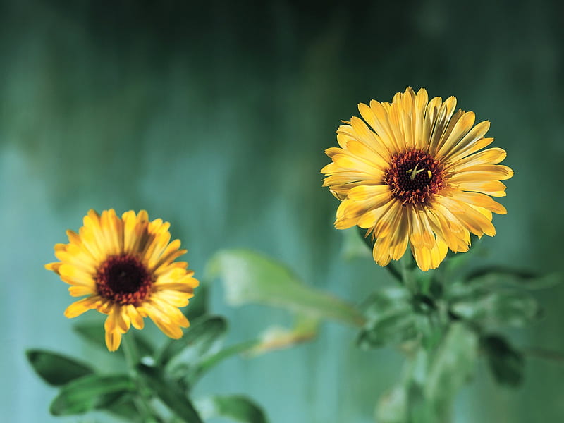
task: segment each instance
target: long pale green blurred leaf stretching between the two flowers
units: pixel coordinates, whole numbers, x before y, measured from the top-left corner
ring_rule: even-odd
[[[283,264],[248,250],[224,250],[210,260],[209,277],[219,276],[231,305],[258,303],[360,325],[357,310],[338,298],[304,285]]]

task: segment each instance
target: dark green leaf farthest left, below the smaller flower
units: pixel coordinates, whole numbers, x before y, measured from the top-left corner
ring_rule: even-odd
[[[33,369],[48,384],[60,386],[94,371],[70,357],[46,350],[27,350],[25,352]]]

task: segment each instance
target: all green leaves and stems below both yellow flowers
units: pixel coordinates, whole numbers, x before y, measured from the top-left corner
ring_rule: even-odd
[[[360,237],[351,231],[347,236],[348,257],[367,257]],[[370,245],[366,238],[364,242]],[[465,256],[472,257],[472,252]],[[204,284],[200,299],[188,307],[192,324],[183,338],[158,349],[139,333],[124,338],[123,353],[117,356],[128,364],[128,374],[104,374],[46,350],[29,350],[27,358],[44,381],[59,387],[51,403],[54,415],[106,410],[143,422],[201,423],[225,417],[266,423],[266,415],[250,398],[212,395],[192,400],[192,388],[227,357],[309,341],[321,321],[332,320],[358,329],[360,348],[394,346],[405,354],[398,384],[376,406],[379,423],[449,422],[453,400],[472,379],[480,357],[500,384],[519,386],[524,354],[503,335],[503,328],[537,319],[534,290],[560,282],[558,275],[538,276],[500,266],[466,270],[468,263],[467,257],[453,256],[437,271],[422,272],[405,257],[400,266],[388,266],[398,285],[379,288],[355,307],[307,286],[274,259],[248,250],[223,250],[210,259],[207,279],[221,279],[226,302],[286,309],[295,317],[293,327],[267,326],[255,339],[224,347],[228,324],[209,314]],[[75,329],[85,341],[105,349],[99,325],[79,324]],[[168,411],[155,411],[156,403]]]

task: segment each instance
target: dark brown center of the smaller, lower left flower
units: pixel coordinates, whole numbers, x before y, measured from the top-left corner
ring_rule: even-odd
[[[147,297],[152,278],[147,268],[129,255],[111,256],[96,276],[99,295],[121,305],[135,304]]]

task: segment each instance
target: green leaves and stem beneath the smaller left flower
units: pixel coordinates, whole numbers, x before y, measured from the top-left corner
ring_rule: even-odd
[[[59,387],[49,409],[51,414],[105,410],[128,422],[202,423],[200,414],[221,415],[243,423],[268,422],[260,407],[244,396],[210,396],[192,404],[191,388],[201,376],[221,360],[251,350],[257,343],[252,340],[223,347],[226,320],[209,314],[205,305],[198,305],[197,310],[200,313],[190,310],[192,324],[183,338],[168,340],[160,349],[139,333],[128,333],[123,338],[123,350],[112,353],[125,360],[123,368],[129,368],[128,374],[104,374],[71,357],[28,350],[27,359],[35,372]],[[75,330],[91,345],[106,350],[99,324],[78,324]],[[159,402],[166,406],[166,413],[157,412]]]

